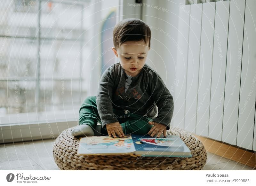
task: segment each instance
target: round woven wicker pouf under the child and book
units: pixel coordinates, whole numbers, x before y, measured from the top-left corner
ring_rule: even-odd
[[[170,128],[167,135],[178,135],[191,150],[191,158],[82,156],[77,154],[79,139],[71,135],[74,127],[64,130],[53,146],[55,163],[60,170],[200,170],[206,163],[204,145],[195,136],[180,128]]]

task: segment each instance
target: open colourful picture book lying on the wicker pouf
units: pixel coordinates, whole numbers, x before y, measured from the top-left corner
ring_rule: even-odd
[[[131,155],[152,157],[192,157],[190,150],[179,136],[159,138],[149,135],[126,135],[123,137],[81,137],[80,155]]]

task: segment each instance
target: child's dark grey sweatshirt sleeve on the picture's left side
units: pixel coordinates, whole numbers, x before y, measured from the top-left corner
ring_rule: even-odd
[[[102,128],[106,128],[106,124],[118,122],[113,112],[112,94],[114,88],[114,72],[109,67],[104,71],[99,83],[99,90],[96,96],[97,109],[100,115]]]

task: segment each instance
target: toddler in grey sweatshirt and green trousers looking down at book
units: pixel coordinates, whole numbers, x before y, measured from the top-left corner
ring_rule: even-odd
[[[75,137],[128,134],[160,137],[170,128],[173,98],[161,77],[146,64],[151,31],[140,19],[124,19],[113,31],[112,50],[119,62],[103,73],[97,96],[85,99]],[[156,107],[157,106],[157,107]]]

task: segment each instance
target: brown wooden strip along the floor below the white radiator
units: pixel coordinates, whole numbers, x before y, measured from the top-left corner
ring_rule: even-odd
[[[220,141],[215,141],[196,134],[193,135],[204,144],[207,152],[256,168],[255,151],[247,151]]]

